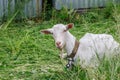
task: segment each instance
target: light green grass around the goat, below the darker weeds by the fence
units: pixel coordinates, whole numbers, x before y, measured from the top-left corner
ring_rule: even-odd
[[[34,25],[14,23],[0,29],[0,80],[120,80],[119,57],[103,60],[96,70],[66,70],[66,61],[59,58],[52,36],[40,33],[53,25],[51,21]],[[112,20],[74,25],[70,32],[78,40],[89,32],[111,34],[120,42]]]

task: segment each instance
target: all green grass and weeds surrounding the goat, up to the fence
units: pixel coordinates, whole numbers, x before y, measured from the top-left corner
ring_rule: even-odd
[[[15,14],[0,26],[0,79],[1,80],[120,80],[120,56],[103,59],[97,69],[66,70],[65,60],[50,35],[40,34],[41,29],[57,23],[74,23],[70,32],[80,39],[85,33],[107,33],[120,42],[120,5],[104,9],[91,9],[84,13],[63,8],[52,9],[49,15],[41,14],[39,22],[15,20]],[[43,16],[44,15],[44,16]]]

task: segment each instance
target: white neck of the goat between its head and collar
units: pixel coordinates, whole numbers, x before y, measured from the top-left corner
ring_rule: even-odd
[[[74,48],[75,45],[75,37],[69,32],[67,31],[66,33],[66,45],[65,45],[65,50],[67,52],[68,55],[70,55],[72,53],[72,50]]]

